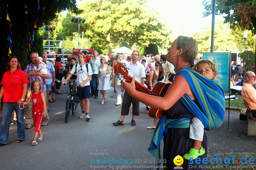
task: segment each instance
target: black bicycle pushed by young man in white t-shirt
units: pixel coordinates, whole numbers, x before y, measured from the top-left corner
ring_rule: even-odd
[[[57,81],[58,82],[58,81]],[[69,91],[68,92],[68,97],[66,100],[66,114],[65,114],[65,122],[68,122],[69,119],[69,113],[70,111],[72,111],[72,114],[74,115],[75,113],[77,113],[77,105],[78,105],[78,96],[76,93],[76,88],[75,87],[80,87],[79,85],[76,84],[70,84],[70,83],[66,83],[64,84],[66,86],[69,86]]]

